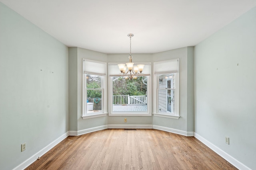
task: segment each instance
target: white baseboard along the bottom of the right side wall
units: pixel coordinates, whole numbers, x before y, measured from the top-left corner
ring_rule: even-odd
[[[244,165],[242,162],[239,162],[238,160],[236,160],[230,154],[227,154],[222,149],[216,147],[214,144],[210,143],[209,141],[207,141],[206,139],[204,139],[203,137],[198,135],[197,133],[194,133],[194,137],[196,139],[198,139],[199,141],[201,141],[202,143],[204,143],[204,145],[206,145],[207,147],[212,149],[214,152],[216,152],[218,155],[220,155],[222,158],[227,160],[230,164],[232,164],[233,166],[235,166],[239,170],[252,170],[249,167],[247,167],[246,165]]]

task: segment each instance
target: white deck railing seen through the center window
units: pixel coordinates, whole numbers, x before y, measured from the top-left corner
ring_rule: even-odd
[[[139,105],[139,104],[147,104],[147,96],[129,96],[129,95],[113,96],[113,105]]]

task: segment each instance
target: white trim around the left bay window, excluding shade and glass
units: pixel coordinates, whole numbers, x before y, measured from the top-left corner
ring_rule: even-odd
[[[92,63],[97,63],[97,64],[104,64],[105,68],[107,66],[107,63],[105,62],[100,62],[100,61],[93,61],[93,60],[88,60],[88,59],[82,59],[82,63],[83,63],[83,70],[82,70],[82,118],[83,119],[90,119],[90,118],[94,118],[94,117],[102,117],[102,116],[106,116],[107,115],[107,83],[106,83],[106,74],[102,75],[102,74],[98,74],[93,72],[85,72],[84,71],[84,61],[88,61],[88,62],[92,62]],[[106,73],[106,69],[105,69],[105,73]],[[86,110],[87,110],[87,99],[86,99],[86,74],[93,74],[93,75],[98,75],[98,76],[102,76],[102,112],[96,112],[96,113],[90,113],[90,114],[86,114]]]

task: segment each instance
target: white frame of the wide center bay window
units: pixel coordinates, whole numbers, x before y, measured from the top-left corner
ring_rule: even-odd
[[[116,74],[108,75],[108,115],[109,116],[152,116],[151,111],[151,63],[134,63],[136,64],[147,64],[150,66],[149,74],[141,74],[141,76],[147,76],[147,111],[146,112],[113,112],[113,76],[124,76],[120,74],[117,64],[119,63],[108,63],[110,65],[116,65]],[[110,68],[110,67],[109,67]],[[108,71],[110,72],[110,71]]]

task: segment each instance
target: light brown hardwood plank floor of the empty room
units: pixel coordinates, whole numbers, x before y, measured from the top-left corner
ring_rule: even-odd
[[[69,136],[26,170],[236,170],[195,137],[155,129]]]

